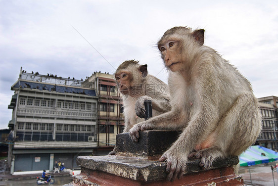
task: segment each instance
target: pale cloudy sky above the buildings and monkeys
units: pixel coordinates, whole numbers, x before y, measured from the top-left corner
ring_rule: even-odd
[[[136,59],[167,83],[156,43],[175,26],[205,29],[204,45],[236,66],[255,96],[278,96],[277,10],[277,0],[0,0],[0,129],[20,67],[85,79]]]

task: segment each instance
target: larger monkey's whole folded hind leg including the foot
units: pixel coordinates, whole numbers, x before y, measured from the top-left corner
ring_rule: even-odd
[[[240,95],[211,134],[216,134],[211,147],[192,152],[188,158],[201,158],[200,166],[208,169],[215,159],[240,155],[246,150],[261,130],[261,117],[255,99],[251,93]]]

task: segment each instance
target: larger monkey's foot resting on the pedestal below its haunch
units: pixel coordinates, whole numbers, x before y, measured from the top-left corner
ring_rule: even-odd
[[[215,159],[223,157],[223,153],[218,147],[210,147],[192,152],[188,155],[188,158],[192,158],[194,156],[197,159],[200,159],[200,167],[202,167],[203,169],[209,169]]]

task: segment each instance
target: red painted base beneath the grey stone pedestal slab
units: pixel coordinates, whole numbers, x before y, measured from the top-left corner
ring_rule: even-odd
[[[73,186],[244,186],[243,178],[235,175],[232,167],[208,170],[185,175],[174,182],[165,180],[139,182],[109,173],[82,168],[75,176]]]

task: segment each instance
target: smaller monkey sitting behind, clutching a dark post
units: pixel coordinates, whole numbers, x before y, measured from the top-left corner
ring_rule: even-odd
[[[147,65],[139,65],[139,61],[126,60],[115,72],[118,90],[122,94],[124,104],[125,127],[129,130],[145,117],[144,101],[152,101],[153,116],[171,110],[168,86],[158,78],[149,75]],[[108,155],[114,155],[115,148]]]

